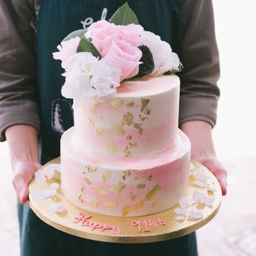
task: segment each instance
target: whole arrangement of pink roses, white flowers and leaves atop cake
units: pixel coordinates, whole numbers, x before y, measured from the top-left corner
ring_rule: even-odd
[[[171,75],[181,71],[178,55],[158,35],[144,31],[125,3],[110,21],[99,20],[87,30],[69,34],[53,53],[66,77],[61,93],[81,102],[103,102],[127,79]]]

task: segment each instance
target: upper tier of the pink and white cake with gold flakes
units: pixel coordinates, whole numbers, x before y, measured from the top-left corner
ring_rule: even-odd
[[[74,111],[72,145],[89,157],[117,161],[152,159],[179,147],[179,86],[175,75],[148,76],[123,82],[103,103],[82,104]]]

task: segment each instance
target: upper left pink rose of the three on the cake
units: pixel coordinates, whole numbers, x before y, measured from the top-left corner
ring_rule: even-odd
[[[84,35],[92,39],[92,44],[99,51],[100,55],[104,57],[112,41],[118,36],[117,26],[102,19],[92,23]]]

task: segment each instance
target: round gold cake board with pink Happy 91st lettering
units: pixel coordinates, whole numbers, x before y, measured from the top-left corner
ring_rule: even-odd
[[[50,163],[60,163],[60,158],[56,158],[47,163],[46,165]],[[31,180],[29,184],[30,206],[35,214],[42,221],[61,231],[73,234],[74,236],[81,238],[113,243],[150,243],[174,239],[191,233],[207,224],[210,220],[212,220],[212,218],[216,216],[221,205],[222,192],[216,177],[206,167],[199,164],[198,162],[191,160],[191,163],[195,165],[195,169],[193,169],[191,172],[196,171],[197,173],[203,173],[207,175],[209,177],[207,179],[207,183],[209,183],[216,189],[216,191],[214,192],[215,201],[210,207],[205,207],[203,203],[196,203],[193,201],[194,191],[198,190],[201,193],[207,193],[207,190],[205,187],[199,187],[195,185],[195,177],[190,176],[187,198],[189,200],[189,203],[194,203],[190,204],[187,210],[189,211],[193,209],[195,211],[202,211],[204,217],[201,219],[191,219],[189,217],[186,217],[185,221],[175,220],[175,217],[177,217],[178,215],[175,214],[174,209],[178,208],[179,205],[171,209],[162,211],[158,214],[140,217],[111,217],[95,214],[93,212],[83,210],[70,203],[61,193],[61,189],[58,189],[58,193],[55,197],[47,198],[45,200],[33,199],[33,197],[31,196],[33,191],[36,191],[38,189],[49,189],[50,184],[52,184],[53,182],[57,182],[59,184],[59,187],[61,187],[60,173],[56,171],[54,177],[50,181],[47,179],[46,182],[37,182],[34,178]],[[42,168],[44,168],[46,165],[44,165]],[[68,211],[63,213],[50,212],[49,207],[57,203],[61,203],[68,209]],[[92,231],[92,227],[81,226],[81,221],[76,224],[73,223],[73,221],[75,221],[75,218],[82,217],[79,215],[80,212],[83,212],[84,217],[92,216],[90,219],[88,219],[88,221],[91,221],[93,223],[100,223],[102,225],[106,224],[109,225],[109,227],[117,227],[119,225],[121,233],[113,234],[113,232],[117,232],[117,230],[102,230],[101,228],[95,228]],[[166,222],[166,224],[160,225],[158,219],[160,221]],[[150,220],[153,220],[155,223],[158,224],[156,224],[155,227],[152,227],[149,225]],[[140,221],[141,232],[138,231],[138,225],[131,225],[133,221],[137,221],[136,223],[139,223]],[[136,223],[134,222],[134,224]],[[151,232],[145,230],[151,230]]]

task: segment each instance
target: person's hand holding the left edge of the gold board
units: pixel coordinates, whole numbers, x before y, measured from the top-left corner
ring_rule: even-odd
[[[12,184],[19,204],[29,206],[29,182],[40,167],[39,163],[30,161],[18,162],[15,165]]]

